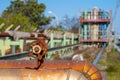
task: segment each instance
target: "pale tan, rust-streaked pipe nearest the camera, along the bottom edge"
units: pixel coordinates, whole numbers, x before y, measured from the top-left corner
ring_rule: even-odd
[[[78,78],[87,80],[82,73],[70,69],[39,69],[38,71],[0,69],[0,80],[78,80]]]

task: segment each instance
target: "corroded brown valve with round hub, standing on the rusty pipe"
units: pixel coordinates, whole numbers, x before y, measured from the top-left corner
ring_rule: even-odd
[[[42,63],[44,62],[44,58],[47,52],[47,44],[45,42],[45,38],[39,37],[36,41],[29,43],[28,46],[28,55],[37,59],[37,67],[35,67],[35,69],[39,69],[42,67]],[[32,51],[30,51],[30,47],[32,47]]]

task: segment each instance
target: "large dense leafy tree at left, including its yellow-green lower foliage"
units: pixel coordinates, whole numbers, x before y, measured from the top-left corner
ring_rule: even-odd
[[[46,6],[32,0],[14,0],[3,12],[2,17],[10,24],[21,25],[23,31],[31,27],[37,28],[50,22],[50,17],[44,15]]]

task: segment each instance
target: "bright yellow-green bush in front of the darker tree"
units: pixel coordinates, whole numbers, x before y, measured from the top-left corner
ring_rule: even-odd
[[[5,26],[2,29],[0,29],[0,31],[5,31],[5,29],[11,24],[13,24],[12,30],[14,30],[17,26],[20,26],[21,31],[31,32],[35,29],[35,27],[33,27],[34,24],[31,24],[29,19],[20,13],[15,14],[13,17],[10,17],[6,21],[4,19],[0,19],[0,23],[1,22],[4,22]]]

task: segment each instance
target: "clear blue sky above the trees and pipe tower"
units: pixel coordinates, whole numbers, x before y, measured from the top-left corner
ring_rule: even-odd
[[[0,0],[0,14],[10,5],[10,1]],[[51,16],[48,11],[53,11],[59,20],[62,20],[65,15],[78,17],[79,11],[92,9],[95,6],[103,10],[112,10],[114,15],[116,7],[116,0],[38,0],[38,2],[46,5],[47,16]]]

